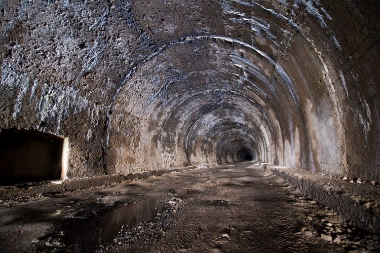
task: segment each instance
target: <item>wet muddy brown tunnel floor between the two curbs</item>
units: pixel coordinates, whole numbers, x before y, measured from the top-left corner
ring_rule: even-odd
[[[253,162],[0,203],[0,252],[379,252]]]

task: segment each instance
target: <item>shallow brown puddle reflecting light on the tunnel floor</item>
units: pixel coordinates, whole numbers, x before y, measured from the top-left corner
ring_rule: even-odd
[[[97,246],[110,243],[117,237],[122,226],[126,229],[140,222],[152,221],[164,211],[164,204],[158,201],[136,202],[117,208],[108,213],[94,231],[93,243]]]

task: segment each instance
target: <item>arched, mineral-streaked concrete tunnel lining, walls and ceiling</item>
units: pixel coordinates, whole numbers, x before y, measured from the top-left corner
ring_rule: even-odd
[[[380,180],[376,0],[0,1],[0,130],[68,177],[253,159]]]

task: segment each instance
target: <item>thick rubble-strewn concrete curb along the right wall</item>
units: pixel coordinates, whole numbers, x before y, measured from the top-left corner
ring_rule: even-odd
[[[271,164],[261,165],[319,204],[335,210],[352,225],[380,233],[380,187]]]

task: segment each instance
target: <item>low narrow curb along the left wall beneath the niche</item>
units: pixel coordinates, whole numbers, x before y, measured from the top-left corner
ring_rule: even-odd
[[[136,179],[145,179],[152,176],[162,176],[171,172],[181,172],[196,167],[190,166],[185,168],[173,169],[173,170],[160,170],[149,171],[142,173],[134,173],[127,175],[112,175],[112,176],[99,176],[93,178],[83,178],[75,180],[66,180],[61,183],[48,183],[35,186],[3,186],[0,187],[0,200],[10,200],[20,197],[37,196],[40,194],[51,194],[65,191],[73,191],[78,189],[90,188],[93,186],[108,185],[112,183],[120,183],[123,181],[131,181]]]

